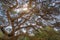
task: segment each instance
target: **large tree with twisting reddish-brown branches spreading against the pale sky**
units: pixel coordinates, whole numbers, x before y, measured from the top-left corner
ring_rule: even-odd
[[[54,6],[50,7],[50,1],[0,0],[0,2],[2,3],[1,9],[4,11],[0,25],[3,34],[6,36],[3,38],[4,40],[17,40],[19,36],[29,36],[30,29],[33,32],[39,32],[38,28],[52,26],[53,23],[49,23],[48,20],[54,21],[56,18],[51,14],[60,13]],[[5,30],[6,27],[12,28],[10,32]]]

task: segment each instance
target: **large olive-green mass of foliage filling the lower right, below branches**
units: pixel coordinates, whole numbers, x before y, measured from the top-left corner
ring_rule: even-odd
[[[41,28],[35,36],[21,36],[19,40],[60,40],[60,33],[51,27]]]

